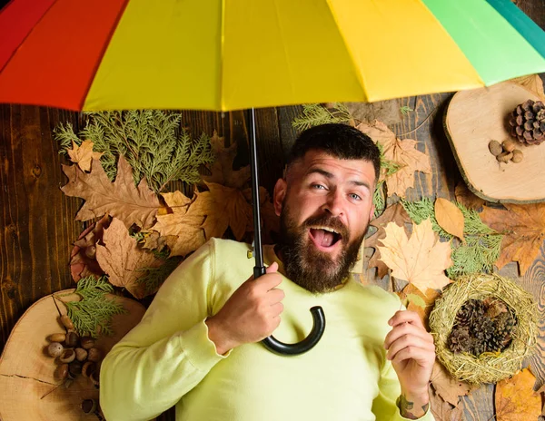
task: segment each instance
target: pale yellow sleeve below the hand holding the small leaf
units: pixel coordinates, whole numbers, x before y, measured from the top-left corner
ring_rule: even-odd
[[[388,421],[410,421],[401,416],[400,409],[396,405],[397,398],[401,395],[401,386],[397,374],[391,365],[390,360],[386,360],[381,370],[381,380],[379,382],[379,395],[372,402],[372,413],[376,419]],[[431,404],[424,416],[418,418],[420,421],[435,421],[431,414]]]

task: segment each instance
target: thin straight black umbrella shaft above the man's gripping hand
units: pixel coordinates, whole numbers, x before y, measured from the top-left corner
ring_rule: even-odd
[[[263,246],[261,238],[261,215],[259,209],[259,174],[257,173],[257,145],[255,132],[255,110],[250,110],[250,171],[252,172],[252,205],[253,205],[253,278],[257,279],[265,274],[263,266]]]

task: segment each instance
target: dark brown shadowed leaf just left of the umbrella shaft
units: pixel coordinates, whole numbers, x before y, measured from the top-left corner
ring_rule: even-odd
[[[233,189],[242,189],[250,180],[250,166],[233,171],[236,143],[233,142],[231,146],[225,148],[225,138],[219,137],[218,133],[214,131],[210,144],[213,148],[215,161],[209,167],[212,175],[203,175],[203,181],[222,184],[223,186],[233,187]]]

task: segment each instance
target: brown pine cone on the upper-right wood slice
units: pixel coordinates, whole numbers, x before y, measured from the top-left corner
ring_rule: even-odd
[[[525,144],[545,141],[545,104],[528,100],[510,114],[511,136]]]

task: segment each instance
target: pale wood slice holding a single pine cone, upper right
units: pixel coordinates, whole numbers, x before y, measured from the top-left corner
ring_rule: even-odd
[[[520,163],[500,163],[489,149],[491,140],[511,139],[509,114],[540,97],[517,83],[456,93],[444,117],[454,158],[470,190],[485,201],[533,203],[545,201],[545,143],[523,146]]]

